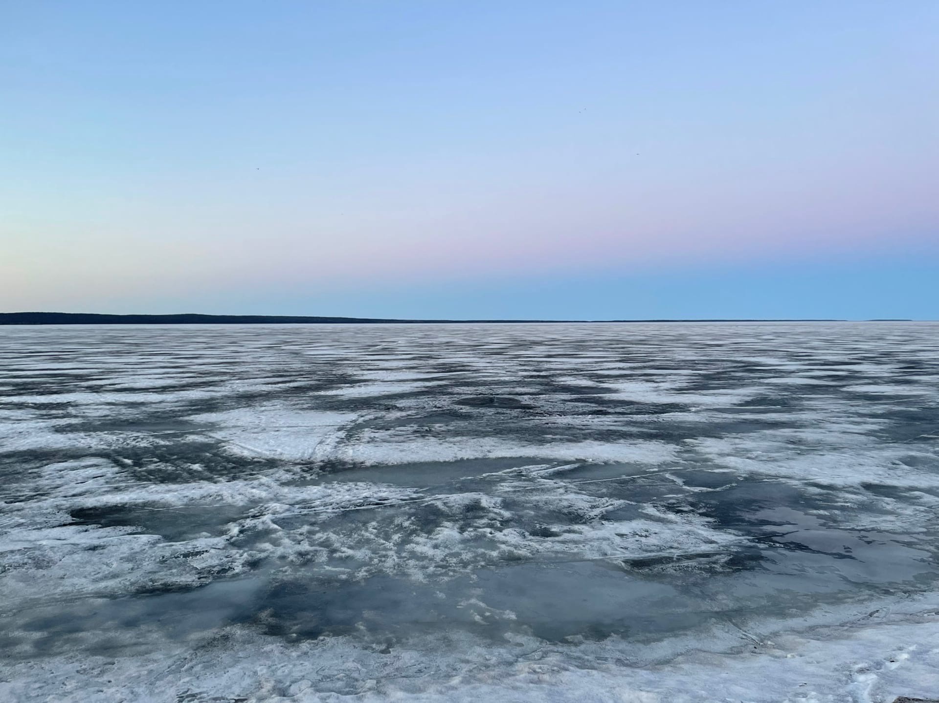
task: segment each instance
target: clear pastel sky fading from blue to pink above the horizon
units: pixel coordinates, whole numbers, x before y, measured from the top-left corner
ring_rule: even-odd
[[[0,0],[0,311],[939,319],[939,3]]]

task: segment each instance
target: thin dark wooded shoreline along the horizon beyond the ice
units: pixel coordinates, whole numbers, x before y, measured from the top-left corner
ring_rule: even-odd
[[[223,314],[100,314],[100,313],[0,313],[0,325],[407,325],[459,323],[570,323],[570,322],[847,322],[839,319],[648,319],[648,320],[399,320],[373,317],[321,317],[310,315]],[[913,320],[868,320],[913,322]]]

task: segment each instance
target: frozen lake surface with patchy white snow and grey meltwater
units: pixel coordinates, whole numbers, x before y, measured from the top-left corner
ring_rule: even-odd
[[[0,700],[939,696],[939,325],[0,329]]]

